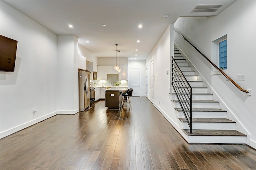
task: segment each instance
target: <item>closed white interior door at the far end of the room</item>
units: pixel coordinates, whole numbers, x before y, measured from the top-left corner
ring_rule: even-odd
[[[140,67],[130,67],[130,88],[132,96],[140,96]]]

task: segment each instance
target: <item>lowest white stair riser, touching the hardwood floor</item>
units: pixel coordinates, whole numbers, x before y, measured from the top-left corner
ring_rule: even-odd
[[[246,136],[187,136],[182,135],[188,143],[245,144]]]

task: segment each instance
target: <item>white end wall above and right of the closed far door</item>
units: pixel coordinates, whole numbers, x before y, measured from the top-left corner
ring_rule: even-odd
[[[129,60],[129,68],[130,67],[140,67],[140,97],[146,97],[147,96],[146,60]]]

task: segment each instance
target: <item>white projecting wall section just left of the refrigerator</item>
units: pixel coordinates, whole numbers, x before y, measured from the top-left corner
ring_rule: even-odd
[[[62,114],[79,112],[78,39],[58,35],[58,110]]]

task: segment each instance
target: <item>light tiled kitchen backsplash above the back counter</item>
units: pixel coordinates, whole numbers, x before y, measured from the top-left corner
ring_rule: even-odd
[[[90,80],[90,84],[93,86],[96,83],[96,86],[114,86],[113,82],[118,82],[118,74],[107,74],[107,80]],[[122,80],[121,87],[128,87],[128,80]]]

